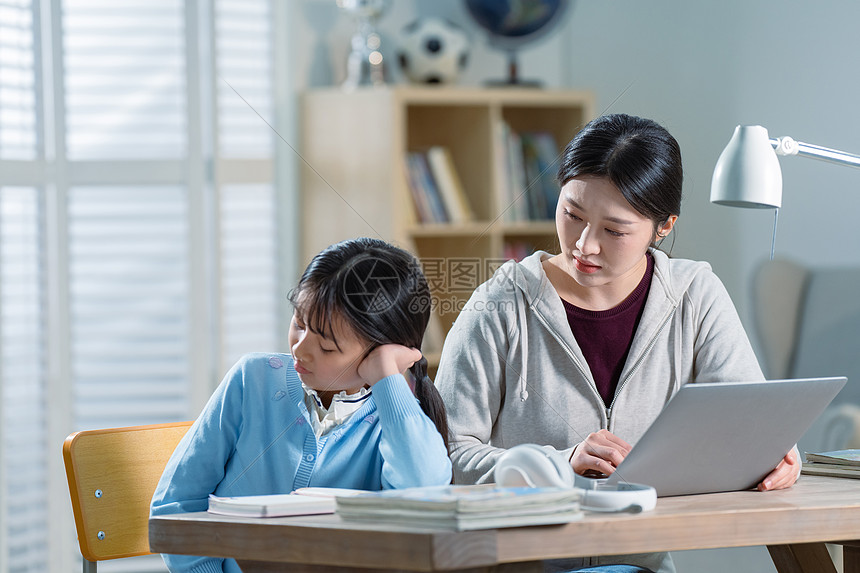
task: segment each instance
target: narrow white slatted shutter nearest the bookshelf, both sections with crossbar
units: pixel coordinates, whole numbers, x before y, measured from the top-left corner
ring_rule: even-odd
[[[246,352],[284,350],[272,182],[271,9],[268,0],[215,2],[221,245],[221,372]]]

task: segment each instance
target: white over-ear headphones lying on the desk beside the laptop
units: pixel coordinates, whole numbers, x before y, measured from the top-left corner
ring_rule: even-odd
[[[649,511],[657,505],[657,491],[648,485],[619,483],[580,476],[557,451],[537,444],[520,444],[499,457],[496,483],[501,487],[563,487],[582,489],[586,511]]]

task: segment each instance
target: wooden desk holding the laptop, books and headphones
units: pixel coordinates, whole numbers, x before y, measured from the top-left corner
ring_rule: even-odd
[[[638,515],[587,513],[565,525],[498,530],[432,531],[337,515],[204,512],[149,521],[152,551],[233,557],[247,573],[529,571],[548,558],[746,545],[767,545],[780,573],[835,572],[824,542],[843,544],[845,573],[860,573],[857,540],[860,480],[814,476],[788,490],[660,498]]]

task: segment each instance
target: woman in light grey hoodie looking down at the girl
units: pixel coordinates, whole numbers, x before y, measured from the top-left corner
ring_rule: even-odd
[[[710,266],[656,249],[681,211],[681,153],[665,129],[599,117],[568,144],[558,180],[561,252],[503,265],[445,341],[436,383],[455,482],[493,481],[504,448],[521,443],[610,474],[681,385],[764,378]],[[799,471],[793,450],[759,489]],[[674,570],[668,554],[564,565],[601,563]]]

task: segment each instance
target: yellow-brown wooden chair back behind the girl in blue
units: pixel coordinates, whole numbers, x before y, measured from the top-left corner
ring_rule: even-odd
[[[75,432],[63,444],[84,573],[149,555],[149,503],[191,422]]]

